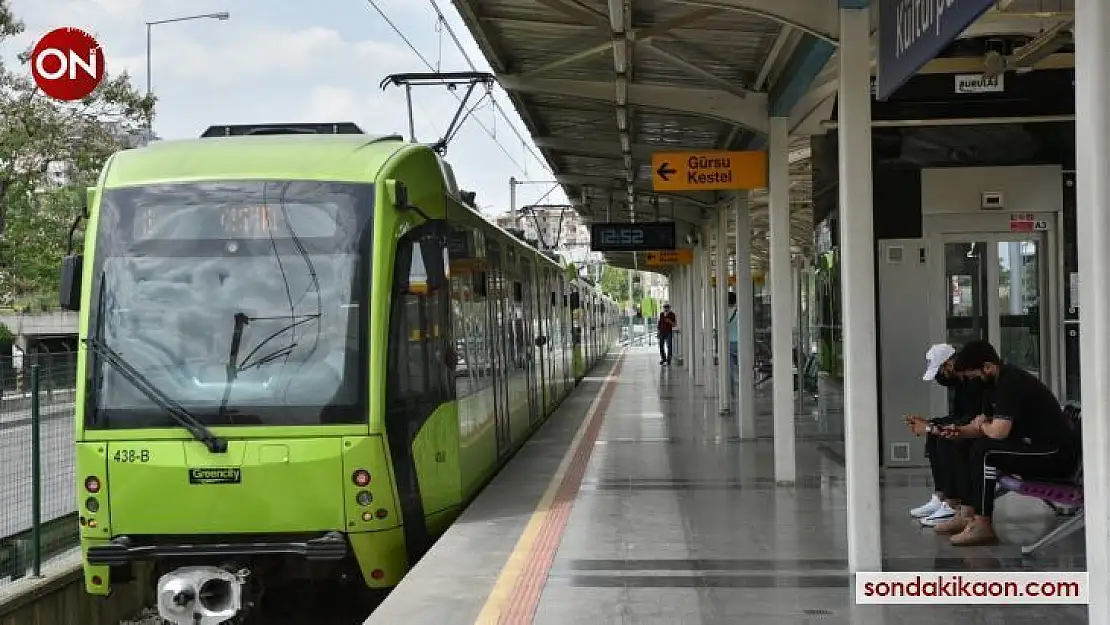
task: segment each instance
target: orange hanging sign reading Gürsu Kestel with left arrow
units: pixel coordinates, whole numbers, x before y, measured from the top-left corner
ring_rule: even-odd
[[[658,152],[652,154],[656,191],[766,189],[767,152]]]

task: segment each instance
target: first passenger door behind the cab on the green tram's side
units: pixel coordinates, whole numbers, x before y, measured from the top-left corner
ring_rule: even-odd
[[[490,281],[486,302],[490,311],[490,352],[493,364],[494,395],[494,429],[497,437],[497,457],[504,457],[513,448],[512,427],[509,425],[508,385],[512,363],[508,359],[509,345],[506,344],[513,323],[505,308],[506,292],[509,282],[505,276],[505,265],[501,251],[495,244],[488,248]],[[507,330],[506,330],[507,329]]]

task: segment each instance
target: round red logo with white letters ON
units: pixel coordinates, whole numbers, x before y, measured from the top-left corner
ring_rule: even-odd
[[[31,75],[39,89],[54,100],[80,100],[104,80],[104,52],[88,32],[58,28],[31,50]]]

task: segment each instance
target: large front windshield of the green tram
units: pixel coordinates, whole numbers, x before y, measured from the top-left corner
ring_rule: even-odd
[[[372,209],[369,184],[107,190],[89,336],[205,425],[365,421]],[[90,359],[88,427],[178,425]]]

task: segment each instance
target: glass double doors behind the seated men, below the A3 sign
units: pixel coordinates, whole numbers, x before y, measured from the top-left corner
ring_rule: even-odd
[[[1052,386],[1047,236],[1042,232],[944,238],[945,332],[962,345],[990,341],[1003,361]]]

